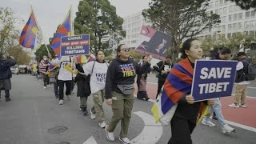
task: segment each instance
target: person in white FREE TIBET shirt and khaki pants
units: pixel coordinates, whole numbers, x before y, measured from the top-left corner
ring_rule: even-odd
[[[105,96],[106,71],[109,66],[105,62],[105,54],[102,50],[96,53],[96,61],[88,62],[83,66],[86,75],[90,74],[90,90],[94,97],[94,106],[90,109],[91,118],[96,117],[98,125],[105,128],[106,121],[102,103]]]

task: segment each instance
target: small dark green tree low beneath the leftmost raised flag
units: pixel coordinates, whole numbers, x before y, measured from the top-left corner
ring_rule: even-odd
[[[48,47],[50,54],[55,55],[54,50],[52,50],[50,48],[50,44],[47,45],[47,47]],[[34,54],[35,54],[35,59],[37,60],[37,62],[40,62],[44,55],[48,56],[48,51],[46,50],[46,45],[41,45],[40,48]]]

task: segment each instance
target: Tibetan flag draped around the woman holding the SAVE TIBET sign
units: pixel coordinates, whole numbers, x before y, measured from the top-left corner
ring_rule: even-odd
[[[176,107],[178,106],[178,101],[183,95],[189,94],[191,91],[193,73],[194,69],[191,66],[188,58],[178,62],[178,64],[176,64],[170,70],[170,73],[168,74],[166,82],[162,88],[162,93],[158,95],[159,98],[151,109],[155,122],[162,122],[162,120],[165,121],[166,119],[168,119],[170,122]],[[201,102],[198,118],[201,119],[202,116],[209,113],[209,109],[207,107],[208,106]],[[169,118],[165,118],[166,116]],[[162,123],[166,124],[169,122]]]

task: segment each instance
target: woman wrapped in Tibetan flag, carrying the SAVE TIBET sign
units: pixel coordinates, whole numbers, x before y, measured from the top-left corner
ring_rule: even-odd
[[[169,144],[192,144],[191,136],[200,107],[207,103],[214,105],[214,100],[194,102],[190,95],[194,73],[194,62],[202,58],[201,42],[195,38],[187,39],[182,46],[182,61],[178,62],[168,75],[164,84],[165,94],[174,103],[178,103],[173,118],[170,121],[171,138]]]

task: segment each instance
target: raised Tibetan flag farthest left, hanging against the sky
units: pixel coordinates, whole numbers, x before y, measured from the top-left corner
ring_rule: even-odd
[[[38,49],[42,43],[42,31],[40,30],[31,7],[30,18],[26,22],[19,39],[19,44],[30,49]]]

